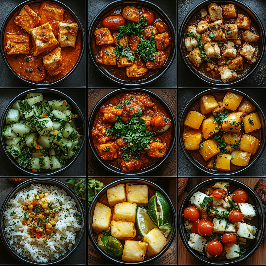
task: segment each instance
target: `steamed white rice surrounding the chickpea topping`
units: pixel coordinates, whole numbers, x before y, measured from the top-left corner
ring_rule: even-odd
[[[63,203],[61,206],[63,210],[59,212],[58,221],[54,228],[55,235],[47,239],[46,243],[43,242],[44,239],[42,238],[31,238],[28,233],[30,225],[22,225],[25,213],[25,210],[22,208],[22,203],[32,201],[34,194],[37,194],[37,190],[47,191],[49,193],[47,200],[53,202],[54,205],[58,205],[56,199],[60,199]],[[28,199],[27,194],[30,195]],[[49,260],[58,259],[68,250],[71,250],[73,244],[75,244],[75,232],[80,230],[81,226],[78,224],[78,218],[74,214],[78,213],[80,215],[80,213],[75,207],[76,202],[70,196],[66,196],[64,190],[56,186],[32,184],[29,188],[16,193],[15,198],[11,199],[7,204],[11,204],[12,207],[6,208],[4,214],[4,231],[6,232],[10,246],[23,257],[39,263],[48,262]],[[13,211],[15,215],[11,217]],[[14,230],[11,231],[12,229]],[[66,240],[60,240],[62,236],[66,237]]]

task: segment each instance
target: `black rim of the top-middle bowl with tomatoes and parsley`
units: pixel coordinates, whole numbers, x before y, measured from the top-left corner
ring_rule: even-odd
[[[109,74],[106,74],[104,71],[102,71],[102,69],[99,67],[99,65],[94,61],[94,57],[93,57],[93,54],[92,54],[92,49],[91,49],[91,45],[90,45],[90,41],[91,41],[91,38],[90,36],[92,35],[92,29],[93,29],[93,26],[96,22],[96,20],[101,16],[101,14],[103,13],[103,11],[105,11],[107,8],[109,8],[110,6],[114,5],[114,4],[118,4],[118,3],[126,3],[124,0],[117,0],[117,1],[114,1],[114,2],[111,2],[109,3],[108,5],[106,5],[105,7],[103,7],[99,12],[98,14],[93,18],[92,22],[90,23],[90,26],[89,26],[89,30],[88,30],[88,53],[89,53],[89,57],[90,57],[90,61],[92,62],[92,65],[94,66],[94,68],[97,70],[97,72],[103,76],[106,80],[112,82],[113,84],[116,84],[116,85],[120,85],[120,86],[128,86],[128,87],[135,87],[135,86],[147,86],[149,84],[152,84],[153,82],[157,81],[159,78],[161,78],[166,72],[167,70],[170,68],[170,66],[172,65],[174,59],[175,59],[175,56],[176,56],[176,29],[174,27],[174,24],[172,22],[172,20],[169,18],[169,16],[164,12],[163,9],[161,9],[159,6],[153,4],[152,2],[148,2],[148,1],[145,1],[145,0],[132,0],[128,3],[132,4],[133,2],[135,3],[138,3],[139,5],[141,5],[142,3],[146,4],[146,5],[149,5],[149,6],[152,6],[153,8],[157,8],[158,10],[161,11],[161,13],[164,14],[164,16],[168,19],[168,23],[169,25],[171,26],[172,30],[173,30],[173,41],[174,41],[174,48],[173,48],[173,56],[172,58],[170,59],[168,65],[165,67],[165,69],[157,76],[155,76],[154,78],[152,78],[151,80],[149,81],[145,81],[145,82],[141,82],[141,83],[130,83],[130,82],[123,82],[122,80],[121,81],[118,81],[118,80],[114,80],[111,75]]]

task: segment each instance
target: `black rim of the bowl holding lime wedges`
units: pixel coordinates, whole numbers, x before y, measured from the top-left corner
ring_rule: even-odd
[[[109,256],[107,253],[103,252],[103,250],[101,248],[98,247],[98,244],[95,242],[95,239],[94,237],[92,236],[92,228],[90,226],[91,224],[91,219],[90,219],[90,213],[92,211],[92,206],[94,205],[94,203],[96,202],[96,200],[98,199],[99,195],[101,192],[103,192],[103,190],[107,190],[108,188],[110,188],[111,186],[114,186],[116,183],[118,182],[135,182],[135,183],[138,183],[138,181],[144,181],[144,182],[147,182],[153,186],[155,186],[157,189],[159,189],[162,193],[163,193],[163,196],[168,200],[170,206],[171,206],[171,209],[172,209],[172,214],[173,214],[173,234],[169,240],[169,242],[167,243],[166,247],[164,248],[163,251],[160,251],[155,257],[151,258],[151,259],[147,259],[147,260],[144,260],[144,261],[136,261],[136,262],[128,262],[128,261],[120,261],[120,260],[116,260],[114,259],[113,257]],[[159,259],[159,257],[161,257],[167,250],[168,248],[171,246],[174,238],[175,238],[175,235],[176,235],[176,210],[175,210],[175,206],[171,200],[171,198],[168,196],[168,194],[157,184],[149,181],[149,180],[145,180],[145,179],[142,179],[142,178],[123,178],[123,179],[119,179],[119,180],[116,180],[108,185],[106,185],[104,188],[102,188],[97,194],[96,196],[93,198],[92,202],[90,203],[90,206],[89,206],[89,211],[88,211],[88,235],[89,235],[89,238],[90,238],[90,241],[92,242],[94,248],[100,253],[102,254],[103,256],[106,257],[106,259],[108,260],[111,260],[112,262],[116,263],[116,264],[146,264],[146,263],[149,263],[149,262],[152,262],[152,261],[155,261],[157,259]]]

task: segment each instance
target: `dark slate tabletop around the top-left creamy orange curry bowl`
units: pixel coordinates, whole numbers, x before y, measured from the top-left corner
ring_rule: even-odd
[[[72,1],[72,0],[60,0],[63,4],[68,6],[80,19],[81,24],[84,28],[86,34],[86,0]],[[2,25],[4,19],[9,14],[9,12],[24,2],[23,0],[9,0],[9,1],[1,1],[1,12],[0,12],[0,23]],[[1,26],[2,27],[2,26]],[[19,81],[17,78],[11,74],[9,69],[6,67],[2,56],[0,58],[0,87],[8,88],[8,87],[26,87],[23,82]],[[86,87],[86,48],[83,54],[83,57],[77,66],[76,70],[63,82],[55,87]]]

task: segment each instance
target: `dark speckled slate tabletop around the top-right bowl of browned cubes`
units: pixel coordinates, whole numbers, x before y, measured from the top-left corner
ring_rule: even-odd
[[[260,18],[264,29],[266,30],[266,2],[262,0],[240,0],[248,5]],[[178,0],[178,31],[186,14],[198,5],[202,0]],[[197,84],[197,87],[206,87],[208,84],[195,77],[185,66],[178,50],[178,87],[191,87]],[[211,87],[211,85],[209,85]],[[266,53],[254,73],[244,82],[235,87],[265,87],[266,86]]]

